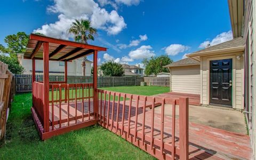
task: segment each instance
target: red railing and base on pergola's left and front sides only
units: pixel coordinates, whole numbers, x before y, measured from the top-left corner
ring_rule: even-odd
[[[93,111],[93,84],[50,84],[44,104],[44,84],[33,83],[34,120],[41,138],[47,139],[98,122]]]

